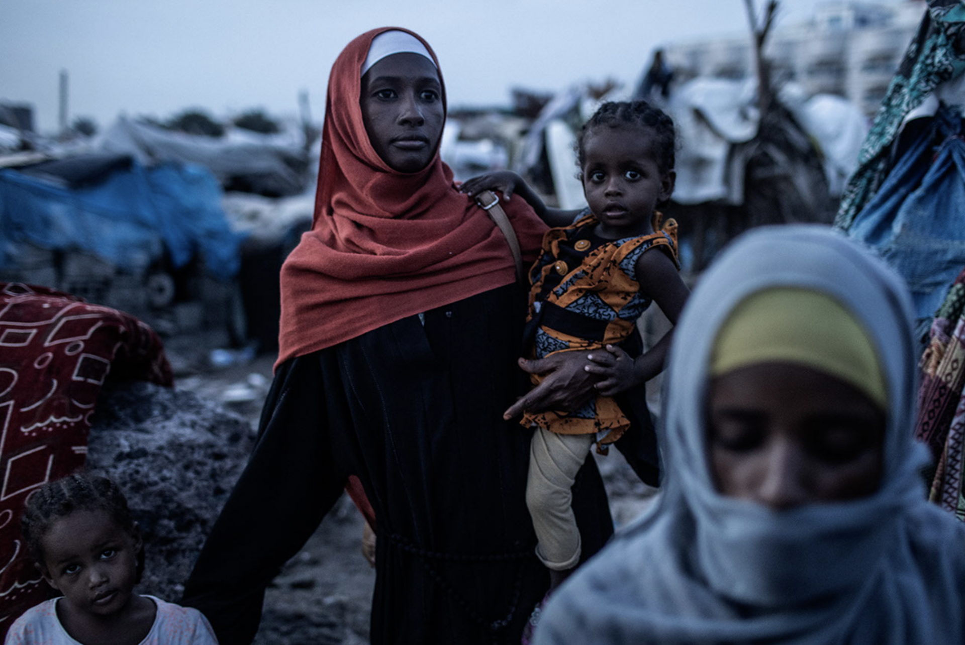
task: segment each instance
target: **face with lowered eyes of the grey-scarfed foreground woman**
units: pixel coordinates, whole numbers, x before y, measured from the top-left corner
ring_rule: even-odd
[[[707,460],[717,491],[782,510],[878,490],[885,416],[829,374],[760,363],[713,378]]]

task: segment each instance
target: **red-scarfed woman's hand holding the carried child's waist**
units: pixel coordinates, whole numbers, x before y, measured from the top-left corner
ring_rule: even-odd
[[[599,352],[599,350],[596,350]],[[526,412],[560,410],[572,412],[596,395],[596,375],[588,371],[591,352],[560,352],[545,359],[519,359],[519,366],[530,374],[542,374],[542,382],[528,391],[503,413],[509,420]]]

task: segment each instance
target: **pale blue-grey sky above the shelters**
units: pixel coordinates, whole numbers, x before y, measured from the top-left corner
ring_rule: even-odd
[[[782,0],[781,23],[819,2]],[[513,86],[632,81],[654,46],[744,34],[747,15],[744,0],[0,0],[0,100],[49,131],[67,69],[71,119],[101,127],[192,106],[294,114],[301,90],[318,118],[339,51],[382,25],[432,44],[451,106],[507,105]]]

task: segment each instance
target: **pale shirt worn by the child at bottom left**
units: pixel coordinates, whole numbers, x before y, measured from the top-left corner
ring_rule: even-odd
[[[217,645],[211,626],[197,609],[145,596],[157,605],[151,632],[139,645]],[[80,645],[57,618],[57,599],[27,610],[10,631],[5,645]]]

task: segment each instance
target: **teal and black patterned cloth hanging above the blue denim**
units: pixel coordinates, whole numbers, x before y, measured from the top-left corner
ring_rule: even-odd
[[[891,169],[890,148],[905,116],[934,89],[965,70],[955,39],[965,25],[962,0],[928,0],[918,34],[908,45],[858,154],[858,170],[841,197],[835,226],[847,230],[880,188]]]

